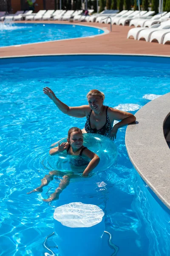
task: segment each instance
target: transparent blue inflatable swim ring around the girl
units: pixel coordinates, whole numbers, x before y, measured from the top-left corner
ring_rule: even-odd
[[[116,160],[117,149],[115,143],[108,137],[99,134],[83,134],[84,142],[83,145],[89,150],[93,151],[100,157],[100,162],[94,171],[101,172],[110,168]],[[59,143],[66,142],[67,137],[60,140]],[[56,147],[57,144],[54,146]],[[66,150],[62,153],[58,153],[48,157],[48,164],[53,170],[59,170],[62,172],[72,171],[70,165],[70,157]]]

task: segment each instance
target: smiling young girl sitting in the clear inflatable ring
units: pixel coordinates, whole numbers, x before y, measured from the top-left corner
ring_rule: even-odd
[[[50,202],[57,200],[59,199],[59,194],[61,194],[62,190],[65,189],[70,183],[71,178],[79,177],[77,175],[78,173],[82,173],[83,177],[87,177],[100,161],[98,155],[83,146],[82,131],[77,127],[72,127],[69,129],[67,142],[61,143],[61,145],[58,143],[58,147],[52,148],[49,153],[50,155],[54,155],[63,152],[64,150],[67,151],[67,154],[77,156],[77,158],[70,159],[70,165],[73,172],[49,172],[49,174],[45,175],[45,177],[41,180],[41,185],[37,187],[37,189],[33,189],[27,194],[31,194],[32,192],[42,192],[42,188],[47,186],[50,181],[53,180],[54,175],[57,175],[62,177],[58,188],[53,194],[51,194],[50,198],[43,199],[43,201]],[[86,157],[89,160],[85,160],[83,157]]]

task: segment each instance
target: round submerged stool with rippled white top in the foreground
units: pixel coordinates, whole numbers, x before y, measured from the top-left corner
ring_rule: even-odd
[[[94,204],[64,204],[54,211],[56,239],[61,256],[94,256],[102,250],[104,212]]]

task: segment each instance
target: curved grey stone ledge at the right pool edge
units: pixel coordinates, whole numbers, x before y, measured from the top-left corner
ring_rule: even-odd
[[[163,125],[170,115],[170,93],[144,105],[136,114],[136,124],[128,125],[127,153],[139,175],[170,209],[170,148]]]

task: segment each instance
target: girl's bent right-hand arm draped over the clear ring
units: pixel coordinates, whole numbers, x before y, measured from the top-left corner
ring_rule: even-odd
[[[82,152],[82,156],[89,157],[91,159],[90,163],[85,168],[82,175],[82,176],[88,176],[89,172],[91,172],[98,165],[100,158],[97,154],[90,151],[88,148]]]

